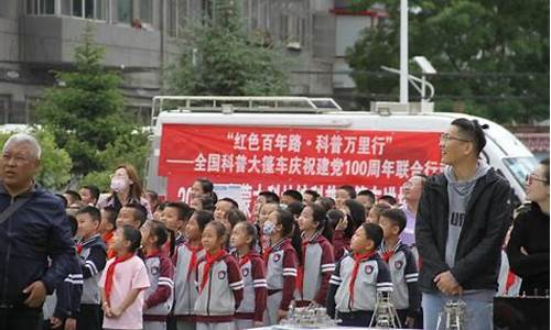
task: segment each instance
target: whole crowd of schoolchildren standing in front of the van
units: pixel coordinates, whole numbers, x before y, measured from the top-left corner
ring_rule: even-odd
[[[277,324],[291,304],[368,327],[379,295],[402,328],[420,327],[419,261],[400,240],[407,217],[393,198],[350,186],[335,199],[262,191],[247,219],[208,180],[194,187],[196,208],[73,212],[78,265],[48,298],[45,329],[250,329]]]

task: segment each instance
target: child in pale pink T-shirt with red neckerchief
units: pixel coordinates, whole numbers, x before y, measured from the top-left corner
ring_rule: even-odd
[[[125,224],[115,232],[116,257],[107,262],[99,279],[104,329],[143,329],[143,296],[149,288],[148,270],[137,256],[140,231]]]

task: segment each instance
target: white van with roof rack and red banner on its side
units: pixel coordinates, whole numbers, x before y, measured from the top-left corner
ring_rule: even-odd
[[[462,117],[488,124],[482,157],[523,200],[525,178],[537,161],[515,135],[495,122],[462,113],[344,111],[332,99],[302,97],[155,97],[147,188],[170,200],[188,201],[193,180],[207,177],[215,184],[241,185],[247,206],[264,189],[281,194],[289,188],[313,187],[331,196],[335,186],[343,184],[399,196],[401,183],[409,175],[441,170],[440,134]],[[271,136],[271,141],[259,141],[259,136]],[[279,150],[272,145],[277,139]],[[343,150],[344,142],[335,142],[353,139],[358,144],[348,153]],[[292,145],[298,141],[302,143],[300,151]],[[361,141],[370,142],[369,148],[361,148]],[[241,142],[249,144],[245,147]],[[380,144],[377,151],[376,142],[387,145]],[[268,153],[261,143],[270,144],[268,151],[276,154]],[[338,153],[332,155],[329,148]],[[337,163],[341,172],[333,167]],[[376,165],[381,173],[386,169],[386,175],[375,172]],[[392,189],[386,184],[393,185]]]

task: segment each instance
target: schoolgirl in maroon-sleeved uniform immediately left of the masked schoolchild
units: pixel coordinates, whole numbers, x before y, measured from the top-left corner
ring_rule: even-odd
[[[255,224],[238,222],[231,232],[230,244],[239,261],[239,270],[244,282],[244,298],[235,315],[238,330],[262,327],[266,310],[266,265],[256,252],[258,233]]]

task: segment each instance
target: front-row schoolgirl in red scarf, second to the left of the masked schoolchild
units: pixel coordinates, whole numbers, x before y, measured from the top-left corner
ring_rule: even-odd
[[[197,330],[234,330],[234,315],[242,300],[242,280],[236,258],[224,249],[227,229],[210,221],[201,242],[205,256],[197,262],[195,301]]]

